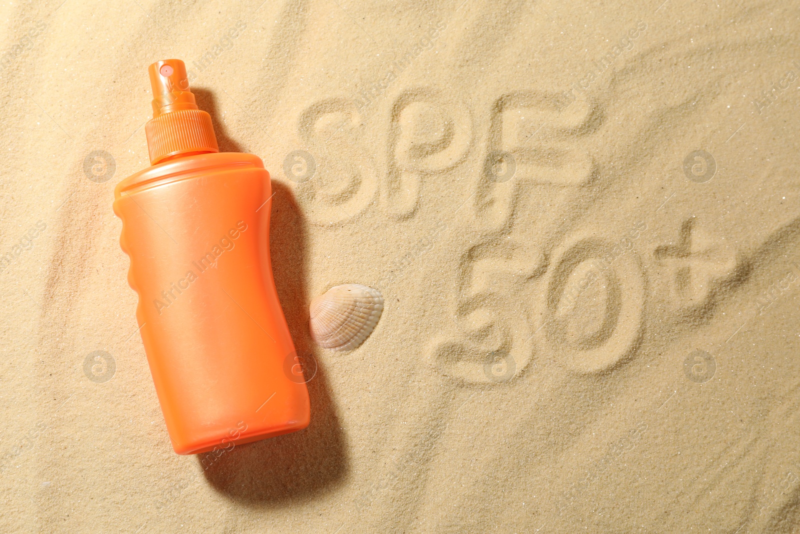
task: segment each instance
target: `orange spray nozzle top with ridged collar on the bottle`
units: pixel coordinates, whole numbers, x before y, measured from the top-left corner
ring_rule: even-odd
[[[186,66],[180,59],[163,59],[150,65],[153,118],[147,122],[150,163],[177,155],[218,152],[211,116],[198,109],[189,90]]]

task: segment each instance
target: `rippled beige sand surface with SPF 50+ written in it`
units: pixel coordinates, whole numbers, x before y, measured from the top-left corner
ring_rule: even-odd
[[[800,531],[793,2],[61,2],[0,8],[2,532]],[[318,366],[213,457],[111,211],[162,58],[270,170]],[[386,299],[344,353],[339,283]]]

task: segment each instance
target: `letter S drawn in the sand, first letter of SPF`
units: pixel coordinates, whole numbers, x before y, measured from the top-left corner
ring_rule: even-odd
[[[298,134],[314,154],[316,173],[298,184],[298,202],[318,225],[354,219],[378,192],[375,166],[361,144],[362,117],[346,98],[330,98],[300,115]]]

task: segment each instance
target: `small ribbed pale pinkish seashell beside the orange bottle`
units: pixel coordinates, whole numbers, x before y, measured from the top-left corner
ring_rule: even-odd
[[[377,289],[360,283],[331,287],[311,301],[311,337],[320,347],[351,351],[369,337],[382,311]]]

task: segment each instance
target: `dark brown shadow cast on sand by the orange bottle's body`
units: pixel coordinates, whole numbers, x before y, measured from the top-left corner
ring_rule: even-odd
[[[273,181],[272,188],[272,267],[295,348],[307,359],[304,372],[309,380],[310,424],[299,432],[198,455],[211,486],[240,504],[263,508],[286,507],[329,492],[342,484],[348,471],[345,440],[322,362],[317,362],[312,375],[306,219],[289,187]]]

